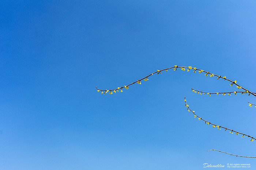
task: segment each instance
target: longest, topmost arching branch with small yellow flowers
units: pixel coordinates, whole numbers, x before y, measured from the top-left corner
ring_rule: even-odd
[[[98,90],[98,92],[101,91],[102,94],[103,94],[103,93],[106,94],[106,93],[108,93],[109,91],[110,91],[109,94],[113,94],[113,92],[116,93],[116,92],[118,92],[118,90],[120,90],[121,92],[123,92],[123,90],[122,90],[123,88],[129,89],[129,86],[130,86],[130,85],[133,85],[133,84],[135,84],[135,83],[141,84],[141,81],[142,81],[142,80],[148,81],[148,77],[152,76],[153,74],[156,74],[156,73],[157,73],[157,74],[162,74],[162,71],[166,71],[166,72],[167,72],[169,69],[173,69],[173,70],[175,71],[175,70],[177,70],[178,68],[181,68],[181,70],[183,70],[183,71],[185,71],[185,69],[187,69],[187,72],[189,72],[190,70],[194,70],[194,71],[193,71],[194,73],[196,73],[196,70],[198,70],[199,73],[203,73],[203,72],[206,73],[206,74],[204,74],[205,76],[208,76],[208,74],[210,75],[210,77],[217,76],[217,79],[222,78],[222,79],[224,79],[224,80],[227,80],[227,81],[231,82],[230,85],[235,84],[235,85],[237,85],[237,88],[238,88],[238,89],[247,90],[248,93],[251,93],[253,96],[256,96],[256,94],[250,92],[248,89],[245,89],[244,87],[238,85],[236,80],[235,80],[235,81],[231,81],[231,80],[229,80],[228,78],[226,78],[226,76],[223,76],[223,77],[222,77],[222,76],[219,76],[219,75],[217,75],[217,74],[213,74],[213,73],[210,73],[210,72],[206,72],[206,71],[204,71],[204,70],[197,69],[196,67],[193,67],[193,68],[192,68],[191,66],[184,67],[184,66],[177,66],[177,65],[175,65],[175,66],[173,66],[173,67],[170,67],[170,68],[167,68],[167,69],[157,70],[156,72],[151,73],[151,74],[149,74],[148,76],[146,76],[146,77],[144,77],[144,78],[141,78],[140,80],[137,80],[137,81],[132,82],[131,84],[128,84],[128,85],[125,85],[125,86],[118,87],[118,88],[116,88],[116,89],[109,89],[109,90],[106,89],[106,90],[103,90],[103,89],[98,89],[97,87],[96,87],[96,89]],[[112,91],[113,91],[113,92],[112,92]]]

